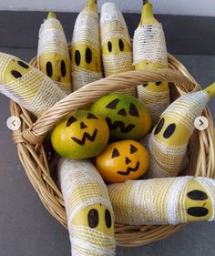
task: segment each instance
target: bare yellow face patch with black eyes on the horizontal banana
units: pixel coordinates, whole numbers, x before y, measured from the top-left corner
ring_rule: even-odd
[[[212,200],[206,189],[195,179],[189,181],[185,204],[188,221],[210,220],[212,218]]]

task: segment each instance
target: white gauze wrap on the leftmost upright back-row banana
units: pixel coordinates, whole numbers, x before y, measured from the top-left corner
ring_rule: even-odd
[[[63,27],[56,18],[46,19],[40,27],[37,51],[38,67],[40,67],[39,56],[47,53],[59,54],[60,56],[65,57],[70,63],[67,38],[65,36]],[[67,94],[71,93],[71,83],[60,83],[56,81],[55,83]]]

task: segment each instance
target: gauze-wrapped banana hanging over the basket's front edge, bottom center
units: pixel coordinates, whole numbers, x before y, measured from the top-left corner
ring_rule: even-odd
[[[114,213],[107,187],[89,160],[60,159],[72,255],[115,255]]]

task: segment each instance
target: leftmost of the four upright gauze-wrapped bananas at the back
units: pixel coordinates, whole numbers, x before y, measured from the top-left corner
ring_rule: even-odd
[[[39,30],[38,67],[67,94],[71,93],[71,64],[67,38],[56,14],[49,12]]]

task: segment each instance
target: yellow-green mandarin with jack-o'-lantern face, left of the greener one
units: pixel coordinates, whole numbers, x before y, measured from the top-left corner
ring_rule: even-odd
[[[73,111],[56,125],[51,135],[56,152],[66,159],[96,157],[106,148],[108,138],[105,119],[87,110]]]

